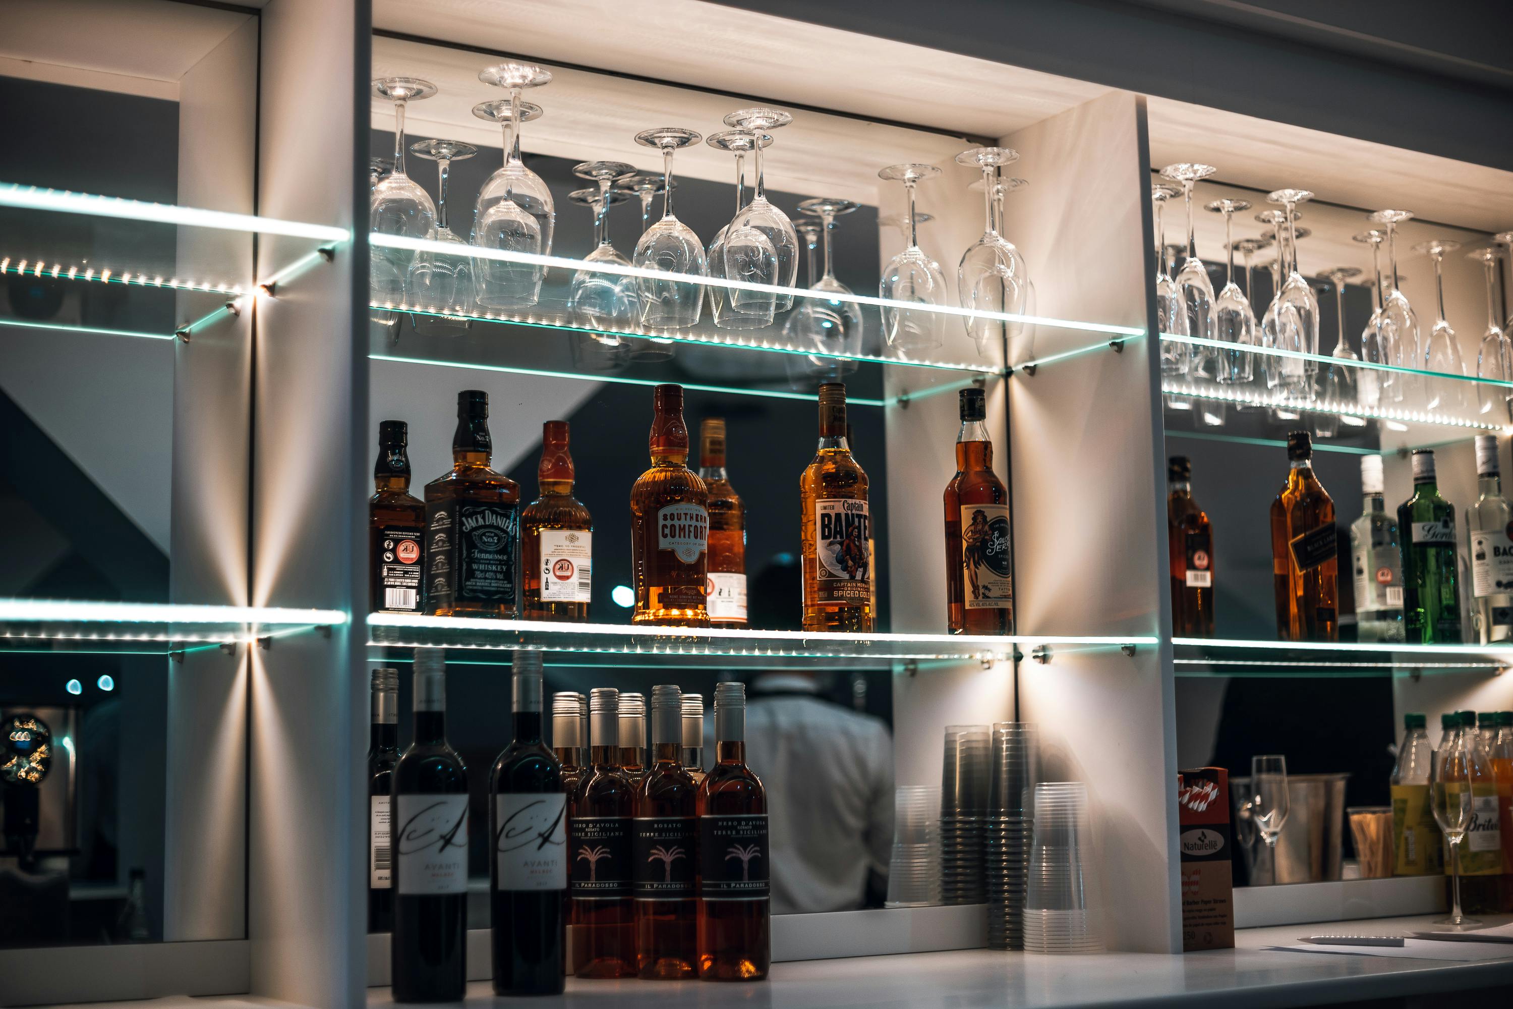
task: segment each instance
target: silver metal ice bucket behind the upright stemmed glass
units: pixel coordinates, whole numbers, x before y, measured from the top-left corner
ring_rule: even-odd
[[[1345,838],[1345,781],[1341,775],[1288,775],[1288,820],[1277,835],[1277,873],[1271,853],[1250,814],[1250,778],[1230,779],[1235,806],[1235,841],[1244,853],[1245,879],[1251,886],[1318,883],[1339,879]]]

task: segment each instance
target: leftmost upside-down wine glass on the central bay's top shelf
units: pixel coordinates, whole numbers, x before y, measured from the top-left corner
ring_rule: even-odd
[[[436,227],[436,204],[404,171],[404,110],[410,101],[421,101],[436,94],[436,85],[416,77],[380,77],[372,82],[374,95],[393,101],[393,166],[389,174],[374,183],[368,198],[369,227],[380,234],[402,234],[427,238]],[[410,272],[415,253],[402,248],[375,245],[371,253],[368,275],[368,298],[375,306],[393,306],[409,301],[404,283]],[[393,312],[374,310],[372,321],[392,327],[399,316]]]

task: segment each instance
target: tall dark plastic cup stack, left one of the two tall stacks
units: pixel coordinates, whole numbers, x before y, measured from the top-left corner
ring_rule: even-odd
[[[985,725],[946,726],[941,768],[941,900],[980,905],[988,899],[982,841],[988,815],[991,734]]]

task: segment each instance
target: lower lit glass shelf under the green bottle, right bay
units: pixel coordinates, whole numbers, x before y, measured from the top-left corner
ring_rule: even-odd
[[[1174,637],[1177,676],[1490,676],[1513,666],[1513,641],[1403,644],[1392,641],[1244,641]]]

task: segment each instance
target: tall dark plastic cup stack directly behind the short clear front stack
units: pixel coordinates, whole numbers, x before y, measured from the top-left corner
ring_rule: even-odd
[[[1024,899],[1039,782],[1039,729],[1029,722],[994,722],[988,768],[983,859],[988,893],[988,948],[1024,948]]]

